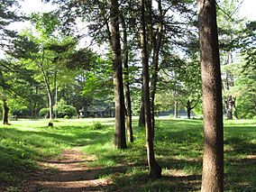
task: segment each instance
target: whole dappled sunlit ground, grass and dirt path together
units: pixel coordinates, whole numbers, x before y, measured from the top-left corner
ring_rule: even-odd
[[[47,123],[16,121],[0,129],[3,185],[29,178],[26,182],[32,183],[31,187],[50,191],[200,188],[204,143],[201,120],[157,120],[155,155],[163,177],[156,181],[148,175],[144,129],[133,126],[135,141],[128,143],[126,150],[116,150],[112,119],[59,119],[53,127],[45,127]],[[240,123],[225,122],[227,190],[251,190],[255,184],[256,133],[250,123],[241,127]]]

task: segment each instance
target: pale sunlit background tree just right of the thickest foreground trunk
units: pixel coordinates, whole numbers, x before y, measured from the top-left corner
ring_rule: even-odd
[[[243,20],[238,16],[239,1],[224,1],[217,9],[217,21],[220,39],[224,109],[227,119],[237,119],[234,73],[229,66],[235,63],[239,55],[239,39],[241,39]]]

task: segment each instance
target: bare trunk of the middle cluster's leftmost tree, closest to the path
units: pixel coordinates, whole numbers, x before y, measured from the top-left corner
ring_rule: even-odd
[[[118,0],[111,0],[110,32],[113,56],[113,79],[114,79],[114,107],[115,107],[115,129],[114,147],[124,149],[127,147],[124,123],[124,96],[123,96],[123,72],[122,55],[119,33],[119,8]]]

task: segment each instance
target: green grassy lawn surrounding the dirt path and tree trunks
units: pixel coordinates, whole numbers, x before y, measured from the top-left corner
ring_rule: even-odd
[[[23,179],[39,169],[36,160],[58,157],[63,149],[80,147],[97,160],[98,178],[113,183],[113,191],[198,191],[201,182],[203,123],[201,120],[157,120],[156,158],[163,169],[158,180],[148,178],[145,133],[134,122],[135,142],[113,149],[114,119],[13,121],[0,125],[0,190],[18,191]],[[256,121],[224,122],[225,191],[256,190]],[[2,188],[1,188],[2,187]]]

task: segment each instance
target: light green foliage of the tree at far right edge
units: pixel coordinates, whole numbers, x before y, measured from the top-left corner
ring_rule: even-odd
[[[256,116],[256,22],[246,23],[241,41],[243,60],[233,67],[236,75],[233,92],[237,93],[237,108],[241,118]]]

